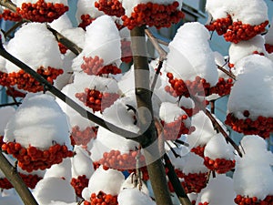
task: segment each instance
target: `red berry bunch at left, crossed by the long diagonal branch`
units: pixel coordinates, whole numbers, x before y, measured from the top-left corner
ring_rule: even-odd
[[[53,84],[53,80],[59,75],[64,73],[63,69],[56,69],[54,67],[39,67],[37,73],[44,77],[50,84]],[[10,86],[17,86],[18,89],[24,89],[29,92],[40,92],[44,90],[44,87],[35,80],[30,74],[25,73],[24,70],[13,72],[8,74],[8,83]]]

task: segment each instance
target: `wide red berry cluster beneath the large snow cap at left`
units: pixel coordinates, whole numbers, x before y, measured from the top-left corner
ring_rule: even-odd
[[[53,145],[49,149],[40,150],[33,146],[23,148],[20,143],[7,142],[2,145],[2,150],[13,155],[18,160],[21,169],[31,172],[36,169],[48,169],[53,164],[61,163],[64,158],[72,157],[73,152],[66,145]]]

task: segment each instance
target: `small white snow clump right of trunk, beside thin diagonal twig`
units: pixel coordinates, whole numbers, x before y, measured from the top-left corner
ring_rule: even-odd
[[[197,146],[205,146],[207,141],[217,134],[211,120],[203,111],[198,112],[191,118],[191,125],[194,126],[196,130],[190,135],[187,135],[187,143],[190,149]]]

